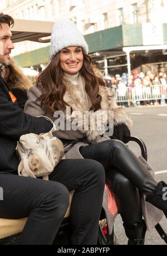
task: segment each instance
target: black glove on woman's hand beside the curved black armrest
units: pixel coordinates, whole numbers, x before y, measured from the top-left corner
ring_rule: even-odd
[[[113,135],[110,137],[111,139],[121,140],[124,143],[128,143],[130,137],[130,130],[125,124],[114,125]]]

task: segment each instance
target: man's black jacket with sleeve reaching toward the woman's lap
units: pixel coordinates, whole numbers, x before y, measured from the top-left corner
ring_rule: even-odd
[[[23,112],[17,101],[13,103],[9,88],[0,77],[0,174],[17,174],[18,158],[15,149],[23,134],[47,132],[52,124],[43,117],[33,117]]]

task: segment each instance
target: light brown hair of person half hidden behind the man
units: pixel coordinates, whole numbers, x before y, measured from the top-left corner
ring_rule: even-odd
[[[22,70],[19,69],[14,63],[13,59],[10,59],[10,64],[7,67],[9,69],[9,75],[6,77],[4,75],[4,80],[6,80],[8,86],[12,88],[19,88],[24,91],[32,86],[31,80],[23,74]]]

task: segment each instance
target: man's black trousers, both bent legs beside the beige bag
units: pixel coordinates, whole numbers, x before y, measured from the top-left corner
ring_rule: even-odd
[[[61,160],[50,181],[0,174],[0,217],[27,217],[21,244],[52,244],[71,203],[71,244],[96,244],[105,185],[104,167],[91,159]],[[91,210],[90,210],[91,209]]]

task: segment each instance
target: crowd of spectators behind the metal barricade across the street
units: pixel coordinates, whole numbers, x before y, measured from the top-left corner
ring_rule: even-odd
[[[127,73],[105,75],[104,79],[106,80],[107,87],[111,88],[113,93],[117,92],[117,96],[128,97],[127,92],[131,92],[132,89],[135,89],[136,96],[140,96],[143,92],[150,92],[154,94],[161,94],[162,98],[158,100],[145,100],[139,101],[139,104],[165,104],[167,102],[167,72],[160,73],[151,73],[151,71],[138,72],[134,70],[131,75]],[[152,86],[152,89],[151,89]],[[140,97],[138,97],[140,98]]]

